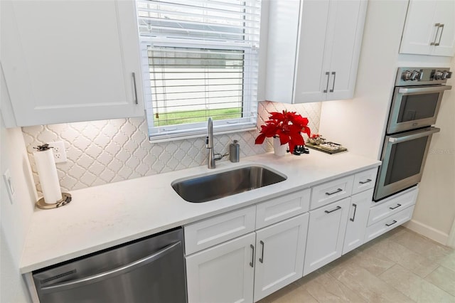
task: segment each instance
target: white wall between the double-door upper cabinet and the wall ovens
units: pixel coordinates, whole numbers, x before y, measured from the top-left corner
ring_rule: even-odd
[[[355,98],[323,102],[320,132],[349,151],[379,159],[407,0],[368,2]]]

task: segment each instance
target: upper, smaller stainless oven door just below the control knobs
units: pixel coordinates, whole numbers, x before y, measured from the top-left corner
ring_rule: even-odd
[[[395,87],[387,134],[434,124],[444,90],[450,89],[450,85]]]

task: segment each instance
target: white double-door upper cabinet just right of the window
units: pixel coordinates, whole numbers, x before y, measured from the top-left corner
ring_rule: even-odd
[[[271,1],[266,99],[353,97],[367,1]]]

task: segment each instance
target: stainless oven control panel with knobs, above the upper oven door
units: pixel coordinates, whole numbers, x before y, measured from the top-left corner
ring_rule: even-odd
[[[398,68],[395,86],[444,84],[451,75],[450,68]]]

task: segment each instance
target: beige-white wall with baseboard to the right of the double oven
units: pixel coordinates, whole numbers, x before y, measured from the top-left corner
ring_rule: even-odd
[[[451,70],[455,71],[452,59]],[[447,82],[455,87],[454,78]],[[419,197],[407,228],[447,244],[455,220],[455,91],[446,90],[429,148]]]

